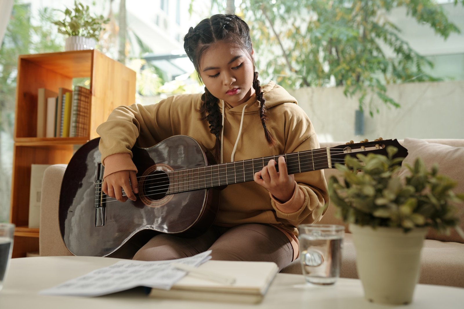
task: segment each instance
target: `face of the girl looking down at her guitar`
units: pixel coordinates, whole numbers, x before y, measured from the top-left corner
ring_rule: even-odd
[[[254,95],[253,62],[238,45],[219,41],[200,58],[200,77],[214,97],[238,106]]]

